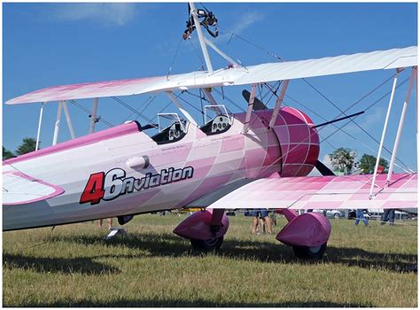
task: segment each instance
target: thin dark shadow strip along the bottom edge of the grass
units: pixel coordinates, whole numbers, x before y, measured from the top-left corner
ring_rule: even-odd
[[[4,305],[8,306],[8,305]],[[11,305],[12,306],[12,305]],[[336,303],[329,301],[283,301],[283,302],[216,302],[206,299],[197,299],[197,300],[185,300],[185,299],[119,299],[109,302],[105,301],[93,301],[93,300],[58,300],[51,303],[36,303],[31,304],[28,302],[25,305],[19,306],[31,306],[31,307],[90,307],[90,306],[101,306],[101,307],[139,307],[139,306],[148,306],[148,307],[371,307],[370,304],[358,304],[358,303]]]

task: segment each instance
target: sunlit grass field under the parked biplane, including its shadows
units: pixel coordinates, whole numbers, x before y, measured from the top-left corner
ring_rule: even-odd
[[[219,252],[172,234],[185,215],[140,215],[105,242],[82,223],[3,234],[4,306],[417,306],[416,222],[331,220],[321,262],[296,260],[275,236],[230,217]],[[284,225],[278,218],[276,232]]]

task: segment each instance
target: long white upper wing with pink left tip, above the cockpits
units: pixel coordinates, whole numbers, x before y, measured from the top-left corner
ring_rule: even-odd
[[[225,68],[215,71],[214,74],[198,71],[190,74],[170,75],[169,77],[158,76],[55,86],[13,98],[6,104],[18,105],[94,97],[129,96],[155,91],[244,85],[416,65],[417,47],[411,46],[404,49],[376,50],[331,58],[268,63],[246,68]]]

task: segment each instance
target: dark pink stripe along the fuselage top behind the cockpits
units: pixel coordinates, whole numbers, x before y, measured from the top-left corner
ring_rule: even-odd
[[[39,151],[32,151],[30,153],[21,155],[14,159],[7,159],[7,160],[4,160],[3,164],[4,165],[15,164],[19,161],[23,161],[27,159],[35,159],[37,157],[49,155],[52,153],[56,153],[58,151],[66,151],[66,150],[74,149],[77,147],[81,147],[83,145],[97,143],[99,141],[112,139],[117,136],[126,136],[126,135],[133,134],[136,132],[139,132],[138,125],[135,121],[132,121],[127,124],[122,124],[120,126],[98,131],[97,133],[94,133],[88,136],[82,136],[80,138],[66,141],[64,143],[52,145]]]

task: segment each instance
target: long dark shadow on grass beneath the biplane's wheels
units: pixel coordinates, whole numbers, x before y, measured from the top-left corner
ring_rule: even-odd
[[[274,236],[273,236],[274,237]],[[54,237],[53,237],[54,240]],[[60,236],[57,240],[79,244],[103,244],[100,236]],[[185,255],[202,256],[205,253],[196,252],[183,238],[169,234],[130,234],[129,237],[115,238],[106,242],[109,245],[119,245],[131,249],[147,250],[151,256],[179,257]],[[302,263],[293,253],[292,247],[284,244],[269,243],[258,240],[228,239],[216,255],[238,259],[256,260],[261,262]],[[142,257],[143,254],[130,255],[130,258]],[[95,258],[116,257],[119,255],[102,255]],[[126,256],[124,256],[126,257]],[[93,259],[93,258],[92,258]],[[369,269],[386,269],[396,272],[416,271],[417,256],[400,253],[368,252],[359,248],[341,248],[328,246],[323,262],[345,264]],[[304,262],[307,263],[307,262]],[[314,262],[313,262],[314,263]]]

